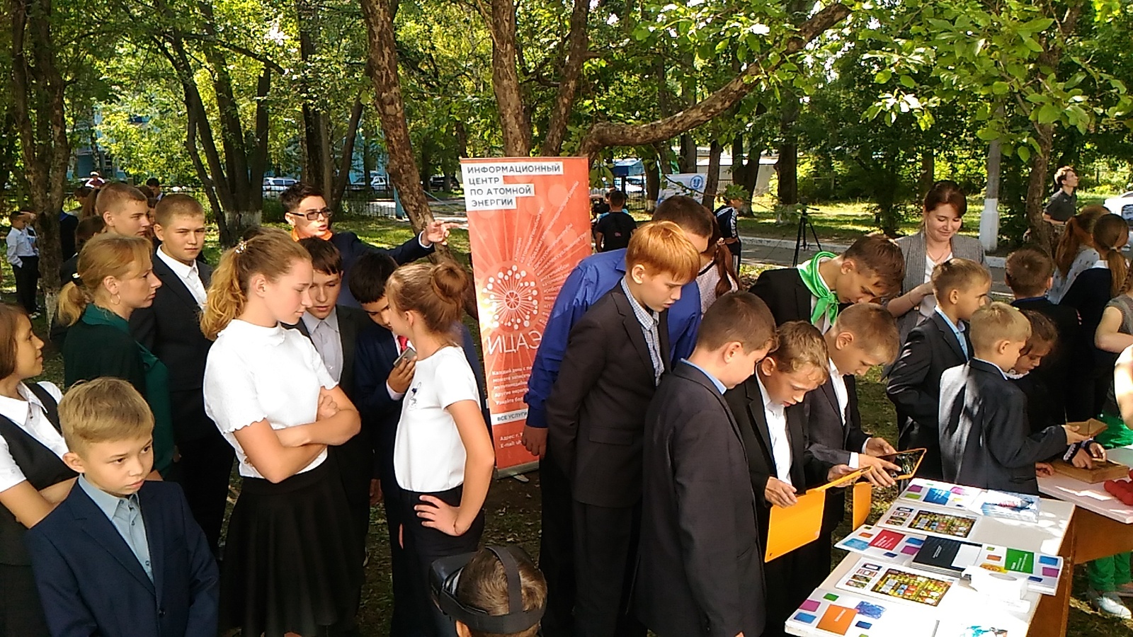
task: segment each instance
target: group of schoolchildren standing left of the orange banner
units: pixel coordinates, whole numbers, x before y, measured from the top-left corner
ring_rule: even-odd
[[[526,557],[477,552],[495,455],[470,282],[409,263],[448,228],[373,248],[299,184],[290,236],[254,229],[212,269],[202,206],[163,197],[151,241],[134,190],[100,190],[104,229],[60,295],[66,396],[29,381],[43,342],[0,306],[0,635],[360,635],[378,500],[393,634],[484,635],[429,592],[458,554],[476,553],[462,603],[517,612],[518,566],[522,610],[542,608]]]

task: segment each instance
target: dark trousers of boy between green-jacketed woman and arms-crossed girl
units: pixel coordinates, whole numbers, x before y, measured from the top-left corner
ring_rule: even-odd
[[[204,394],[198,390],[169,394],[173,411],[173,438],[180,459],[177,483],[185,491],[193,518],[205,532],[213,555],[220,555],[220,530],[228,504],[228,481],[236,452],[205,415]]]

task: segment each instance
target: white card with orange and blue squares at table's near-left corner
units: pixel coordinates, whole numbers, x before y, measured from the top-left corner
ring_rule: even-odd
[[[840,637],[932,635],[937,620],[900,604],[867,600],[842,591],[817,588],[787,620],[801,632]]]

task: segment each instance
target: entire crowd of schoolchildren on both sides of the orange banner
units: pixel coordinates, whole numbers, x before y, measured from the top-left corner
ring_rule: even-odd
[[[26,312],[0,307],[0,632],[357,635],[381,499],[391,634],[486,635],[431,594],[435,560],[479,547],[494,466],[460,322],[468,277],[408,264],[446,228],[370,248],[332,230],[322,194],[299,184],[281,197],[290,236],[250,232],[212,270],[197,260],[199,204],[164,197],[154,249],[118,237],[140,233],[122,193],[96,204],[109,231],[83,245],[62,295],[65,363],[80,368],[66,397],[25,383],[43,343]],[[1104,365],[1068,371],[1085,355],[1065,346],[1093,340],[1089,321],[1098,348],[1133,345],[1133,303],[1096,298],[1128,291],[1110,258],[1127,229],[1109,237],[1113,222],[1094,221],[1089,240],[1071,224],[1081,245],[1067,249],[1093,254],[1064,270],[1040,250],[1008,258],[1022,309],[988,303],[980,264],[940,263],[934,314],[902,343],[879,305],[903,279],[894,241],[866,236],[750,291],[717,286],[706,304],[713,263],[738,287],[719,223],[689,197],[663,202],[625,248],[583,260],[551,311],[525,397],[523,444],[543,459],[543,574],[522,564],[523,611],[546,605],[548,637],[782,635],[829,572],[845,495],[826,492],[817,541],[766,561],[770,508],[858,469],[895,484],[896,449],[858,408],[855,377],[877,366],[892,365],[897,448],[927,450],[919,475],[1036,493],[1043,462],[1085,440],[1048,408],[1058,389],[1092,380],[1101,402],[1077,409],[1124,409]],[[1083,299],[1073,333],[1067,305],[1045,297],[1056,271]],[[1073,461],[1099,457],[1093,445]],[[468,600],[518,611],[504,566],[476,572],[483,586],[459,586]]]

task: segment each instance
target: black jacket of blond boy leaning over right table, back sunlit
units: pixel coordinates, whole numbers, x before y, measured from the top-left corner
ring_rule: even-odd
[[[1032,434],[1026,397],[985,360],[945,372],[940,397],[944,479],[1038,495],[1034,464],[1066,449],[1062,427]]]

